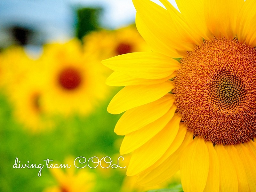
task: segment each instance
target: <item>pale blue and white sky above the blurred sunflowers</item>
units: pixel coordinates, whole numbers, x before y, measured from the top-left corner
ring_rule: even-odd
[[[176,6],[174,0],[169,1]],[[1,28],[18,25],[36,29],[46,41],[65,41],[74,36],[72,8],[79,5],[102,7],[100,23],[106,28],[120,28],[135,20],[132,0],[0,0],[0,36]]]

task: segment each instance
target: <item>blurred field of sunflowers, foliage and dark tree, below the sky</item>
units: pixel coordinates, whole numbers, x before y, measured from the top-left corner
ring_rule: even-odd
[[[134,24],[100,27],[99,16],[89,17],[97,11],[77,10],[81,21],[76,36],[44,43],[36,56],[17,34],[2,47],[0,191],[135,192],[162,187],[142,187],[136,177],[126,177],[130,155],[120,155],[122,136],[113,131],[120,115],[107,112],[120,88],[106,84],[113,71],[101,64],[150,48]],[[179,182],[177,175],[173,183]]]

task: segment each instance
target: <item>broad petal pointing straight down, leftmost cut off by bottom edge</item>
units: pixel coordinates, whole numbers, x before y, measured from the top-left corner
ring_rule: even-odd
[[[209,151],[204,139],[196,137],[180,158],[180,180],[186,192],[203,192],[209,172]]]

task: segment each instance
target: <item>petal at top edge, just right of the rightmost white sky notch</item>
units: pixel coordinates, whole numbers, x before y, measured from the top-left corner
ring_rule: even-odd
[[[160,0],[167,4],[167,0]],[[212,39],[212,34],[206,26],[204,17],[204,0],[176,0],[182,17],[188,23],[189,27],[195,31],[198,36],[206,40]]]

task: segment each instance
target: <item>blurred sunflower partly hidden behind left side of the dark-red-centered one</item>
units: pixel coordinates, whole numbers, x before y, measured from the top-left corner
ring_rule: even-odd
[[[36,66],[35,63],[30,64]],[[44,77],[39,72],[39,68],[38,70],[34,68],[19,86],[10,89],[9,93],[15,119],[32,132],[49,130],[54,124],[41,103],[41,98],[45,93]]]

